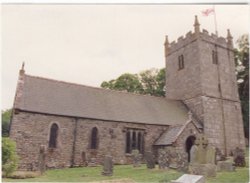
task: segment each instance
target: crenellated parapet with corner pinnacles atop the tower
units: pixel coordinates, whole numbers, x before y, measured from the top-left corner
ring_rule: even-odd
[[[214,33],[209,34],[206,29],[202,29],[202,31],[200,31],[198,17],[195,16],[194,32],[187,32],[185,36],[180,36],[177,41],[172,41],[170,43],[168,39],[165,41],[165,56],[184,48],[196,40],[205,41],[218,47],[223,47],[233,51],[233,37],[229,29],[227,30],[227,38],[221,36],[219,37]]]

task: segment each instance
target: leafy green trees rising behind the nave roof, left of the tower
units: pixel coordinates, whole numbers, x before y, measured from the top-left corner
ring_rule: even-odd
[[[165,69],[150,69],[140,74],[122,74],[117,79],[104,81],[101,87],[153,96],[164,96]]]

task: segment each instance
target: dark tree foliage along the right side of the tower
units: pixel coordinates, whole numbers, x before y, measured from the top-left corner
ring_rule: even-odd
[[[235,49],[235,63],[245,136],[249,138],[249,36],[242,35]]]

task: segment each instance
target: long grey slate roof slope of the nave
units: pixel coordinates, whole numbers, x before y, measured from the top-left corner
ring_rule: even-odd
[[[45,114],[144,124],[176,125],[188,110],[176,100],[23,76],[15,108]],[[18,91],[20,92],[20,91]]]

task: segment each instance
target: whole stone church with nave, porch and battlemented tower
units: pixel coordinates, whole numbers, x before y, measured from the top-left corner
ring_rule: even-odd
[[[16,141],[20,169],[37,170],[45,150],[48,168],[131,163],[131,151],[173,146],[189,154],[193,140],[229,155],[244,149],[233,40],[200,30],[165,40],[166,97],[111,91],[30,76],[20,70],[10,138]]]

